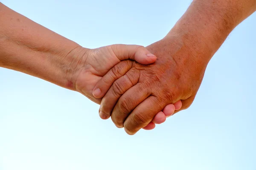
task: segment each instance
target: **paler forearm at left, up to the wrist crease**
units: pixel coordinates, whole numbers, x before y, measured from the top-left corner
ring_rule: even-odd
[[[0,67],[72,88],[67,77],[73,59],[67,54],[76,47],[80,45],[0,3]]]

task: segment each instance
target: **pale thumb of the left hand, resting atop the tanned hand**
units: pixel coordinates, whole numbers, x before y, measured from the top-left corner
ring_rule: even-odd
[[[140,64],[151,64],[156,61],[157,57],[151,54],[147,48],[141,45],[125,45],[115,44],[110,45],[114,54],[119,60],[132,59]]]

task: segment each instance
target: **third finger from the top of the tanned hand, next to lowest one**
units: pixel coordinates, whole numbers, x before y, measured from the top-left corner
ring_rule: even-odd
[[[129,114],[148,96],[150,96],[149,89],[141,89],[139,83],[126,91],[119,98],[111,113],[111,119],[116,127],[123,127],[125,119]]]

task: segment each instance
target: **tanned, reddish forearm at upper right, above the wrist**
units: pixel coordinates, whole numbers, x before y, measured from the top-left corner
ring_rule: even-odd
[[[254,11],[256,0],[194,0],[165,38],[180,38],[183,47],[191,48],[197,61],[206,64],[230,32]]]

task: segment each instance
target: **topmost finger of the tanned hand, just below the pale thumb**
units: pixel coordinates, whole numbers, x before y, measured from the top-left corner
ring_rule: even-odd
[[[132,67],[132,61],[126,60],[115,65],[102,79],[97,82],[93,88],[93,96],[95,98],[102,98],[107,93],[113,82],[125,75]]]

